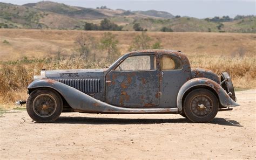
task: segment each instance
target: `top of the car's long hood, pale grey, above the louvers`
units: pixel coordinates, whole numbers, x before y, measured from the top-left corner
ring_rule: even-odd
[[[104,69],[66,69],[41,71],[40,76],[34,76],[34,79],[85,79],[100,78],[104,76]]]

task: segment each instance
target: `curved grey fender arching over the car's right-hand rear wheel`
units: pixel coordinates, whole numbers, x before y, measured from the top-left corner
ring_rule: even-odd
[[[178,110],[182,110],[183,106],[183,96],[186,92],[190,91],[193,87],[211,87],[215,93],[218,95],[219,102],[224,107],[235,107],[239,106],[238,103],[233,101],[230,96],[226,93],[226,91],[219,85],[217,82],[207,79],[207,78],[194,78],[187,81],[183,86],[181,86],[178,96],[177,96],[177,106]]]

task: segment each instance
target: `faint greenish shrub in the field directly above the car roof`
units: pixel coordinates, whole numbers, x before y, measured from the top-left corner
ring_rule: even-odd
[[[142,34],[134,37],[132,45],[129,50],[145,50],[150,48],[150,40],[151,38],[147,36],[146,32],[142,32]]]

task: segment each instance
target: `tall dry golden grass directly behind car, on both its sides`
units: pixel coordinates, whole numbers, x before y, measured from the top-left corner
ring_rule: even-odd
[[[237,89],[256,88],[255,57],[226,57],[220,55],[188,55],[192,67],[211,69],[217,74],[228,72],[232,76]],[[109,66],[109,61],[90,61],[80,57],[64,60],[34,59],[2,62],[0,68],[0,103],[14,103],[26,99],[26,87],[33,81],[33,75],[38,75],[45,69],[79,69],[103,68]]]

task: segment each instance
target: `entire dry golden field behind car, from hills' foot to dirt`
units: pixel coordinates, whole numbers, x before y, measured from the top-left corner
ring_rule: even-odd
[[[0,29],[0,103],[26,99],[26,87],[33,75],[42,68],[77,69],[103,68],[105,53],[97,54],[97,62],[70,58],[76,37],[86,31],[68,30],[11,30]],[[99,40],[103,31],[87,31]],[[126,53],[139,32],[112,32],[117,35],[119,48]],[[163,33],[147,32],[152,43],[160,40],[165,49],[181,50],[190,59],[192,67],[211,69],[215,73],[227,71],[238,89],[256,88],[256,34],[241,33]],[[2,43],[4,40],[9,44]],[[61,48],[61,58],[56,61]],[[32,59],[16,61],[24,58]],[[9,61],[12,60],[12,61]]]

